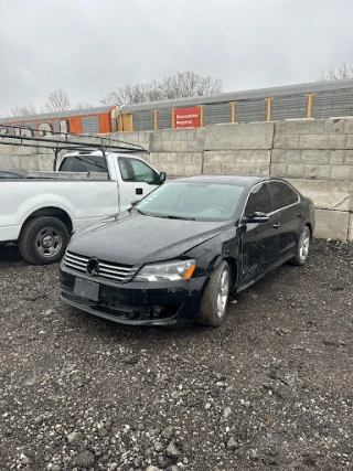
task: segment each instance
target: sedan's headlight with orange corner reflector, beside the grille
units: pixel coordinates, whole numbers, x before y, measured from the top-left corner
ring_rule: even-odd
[[[196,260],[163,261],[161,264],[146,265],[135,276],[135,281],[178,281],[189,280]]]

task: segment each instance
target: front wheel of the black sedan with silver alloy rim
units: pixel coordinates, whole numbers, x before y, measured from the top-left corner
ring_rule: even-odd
[[[211,275],[208,285],[203,293],[197,314],[200,324],[217,328],[223,323],[229,300],[229,266],[226,261],[222,261]]]

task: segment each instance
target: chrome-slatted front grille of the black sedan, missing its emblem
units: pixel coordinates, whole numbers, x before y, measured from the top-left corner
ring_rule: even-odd
[[[66,267],[85,274],[87,272],[87,264],[89,260],[89,257],[73,254],[72,251],[67,250],[64,256],[64,264],[66,265]],[[128,265],[117,265],[111,264],[109,261],[98,260],[98,271],[94,276],[99,278],[113,279],[119,282],[126,282],[130,281],[133,278],[136,271],[137,268],[133,268]]]

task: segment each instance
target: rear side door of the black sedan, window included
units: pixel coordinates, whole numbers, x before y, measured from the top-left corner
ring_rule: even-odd
[[[288,259],[295,254],[298,236],[302,225],[302,211],[299,194],[286,182],[270,181],[275,211],[279,216],[279,260]]]

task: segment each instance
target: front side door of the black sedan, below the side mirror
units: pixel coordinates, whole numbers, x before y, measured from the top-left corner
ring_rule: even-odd
[[[250,215],[265,213],[268,221],[252,223]],[[268,183],[258,183],[249,192],[240,221],[242,285],[249,285],[275,264],[279,244],[279,215],[274,212]]]

